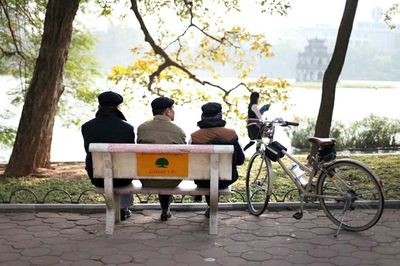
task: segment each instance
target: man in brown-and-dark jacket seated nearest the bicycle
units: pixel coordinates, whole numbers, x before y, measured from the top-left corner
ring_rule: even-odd
[[[197,122],[199,130],[191,134],[192,144],[229,144],[234,146],[232,160],[232,180],[220,180],[219,188],[227,188],[238,179],[237,165],[244,163],[244,153],[239,144],[238,136],[233,129],[225,128],[225,120],[222,119],[222,107],[219,103],[209,102],[201,107],[203,111],[201,120]],[[209,180],[196,180],[199,187],[210,187]],[[210,205],[210,197],[206,196],[207,204]],[[210,209],[207,208],[205,215],[209,217]]]

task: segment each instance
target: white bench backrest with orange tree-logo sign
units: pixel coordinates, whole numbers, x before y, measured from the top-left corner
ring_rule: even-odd
[[[91,143],[94,178],[219,179],[232,178],[233,145]],[[110,173],[111,171],[111,173]]]

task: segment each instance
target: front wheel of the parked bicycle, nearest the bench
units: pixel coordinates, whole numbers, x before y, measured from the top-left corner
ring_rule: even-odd
[[[251,157],[246,174],[246,199],[251,214],[261,215],[269,201],[271,163],[262,152]]]

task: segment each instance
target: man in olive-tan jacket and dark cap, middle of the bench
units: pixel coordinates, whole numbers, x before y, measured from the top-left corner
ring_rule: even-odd
[[[185,132],[173,124],[175,118],[174,100],[168,97],[159,97],[151,102],[153,120],[144,122],[138,127],[137,143],[148,144],[185,144]],[[140,179],[144,187],[176,187],[181,180],[146,180]],[[169,205],[171,195],[158,195],[161,205],[161,220],[167,221],[171,217]]]

